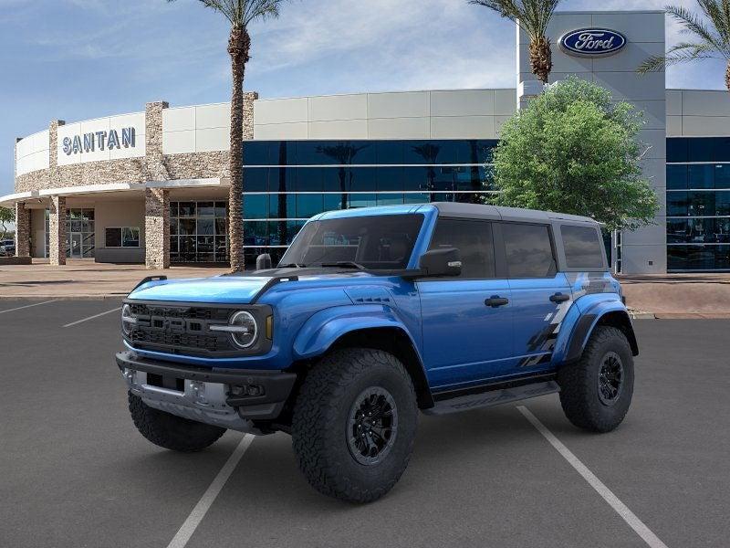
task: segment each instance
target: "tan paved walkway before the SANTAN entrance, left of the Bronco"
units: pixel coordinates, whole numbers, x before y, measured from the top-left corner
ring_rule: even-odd
[[[89,259],[68,259],[66,266],[52,267],[47,261],[34,260],[32,265],[0,267],[0,300],[119,299],[146,276],[207,278],[227,271],[188,266],[148,270],[144,265],[95,263]]]

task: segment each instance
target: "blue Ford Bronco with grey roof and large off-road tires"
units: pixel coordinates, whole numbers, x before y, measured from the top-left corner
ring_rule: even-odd
[[[608,432],[631,404],[636,338],[589,218],[335,211],[256,267],[146,279],[124,301],[117,364],[152,443],[283,431],[316,490],[367,502],[406,469],[419,410],[559,393],[570,422]]]

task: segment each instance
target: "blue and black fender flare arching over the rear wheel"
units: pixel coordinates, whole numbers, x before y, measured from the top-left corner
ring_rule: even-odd
[[[639,345],[629,312],[620,301],[610,300],[600,301],[580,314],[568,337],[564,349],[565,355],[560,361],[569,363],[579,360],[589,342],[590,335],[598,325],[611,325],[620,329],[629,341],[631,353],[635,356],[639,354]]]

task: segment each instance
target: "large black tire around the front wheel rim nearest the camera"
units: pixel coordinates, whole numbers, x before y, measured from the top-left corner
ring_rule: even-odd
[[[376,464],[351,453],[351,410],[363,391],[384,389],[397,408],[390,451]],[[408,466],[418,421],[412,379],[391,353],[366,348],[333,351],[308,373],[294,407],[292,445],[311,486],[343,501],[370,502],[387,493]]]

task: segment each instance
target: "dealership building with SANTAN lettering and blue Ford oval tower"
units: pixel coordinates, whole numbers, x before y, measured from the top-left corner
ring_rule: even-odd
[[[627,274],[730,270],[730,95],[667,90],[636,67],[665,51],[662,12],[558,12],[551,81],[592,80],[645,113],[641,160],[661,204],[655,223],[614,234]],[[245,94],[247,264],[280,257],[321,211],[479,202],[501,125],[542,89],[516,32],[516,87],[262,99]],[[59,113],[62,114],[62,113]],[[228,260],[227,103],[89,121],[51,121],[16,142],[16,254],[99,262]]]

